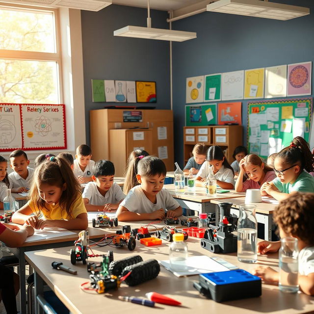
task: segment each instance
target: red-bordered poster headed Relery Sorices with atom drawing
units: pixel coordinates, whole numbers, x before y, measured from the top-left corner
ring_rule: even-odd
[[[23,149],[65,149],[64,105],[21,106]]]

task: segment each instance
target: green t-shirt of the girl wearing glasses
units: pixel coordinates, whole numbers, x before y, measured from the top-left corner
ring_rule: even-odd
[[[282,193],[311,192],[314,193],[314,177],[306,171],[302,171],[294,183],[281,183],[279,178],[273,180],[274,185]]]

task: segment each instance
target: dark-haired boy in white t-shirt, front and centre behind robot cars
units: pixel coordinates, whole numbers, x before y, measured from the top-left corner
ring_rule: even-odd
[[[154,156],[140,159],[136,175],[140,185],[134,186],[120,204],[116,214],[118,220],[161,220],[165,216],[181,216],[179,203],[162,188],[166,173],[161,159]]]

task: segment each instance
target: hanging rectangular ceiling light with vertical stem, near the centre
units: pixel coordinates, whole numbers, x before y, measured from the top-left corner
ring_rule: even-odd
[[[169,40],[169,41],[185,41],[196,38],[195,32],[152,28],[152,19],[150,17],[150,5],[147,0],[147,27],[142,26],[125,26],[113,32],[114,36],[135,37],[145,39]]]

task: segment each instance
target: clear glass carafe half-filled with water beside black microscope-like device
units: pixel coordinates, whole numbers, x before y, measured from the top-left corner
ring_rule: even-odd
[[[257,220],[255,205],[239,205],[237,222],[237,259],[244,263],[257,262]]]

